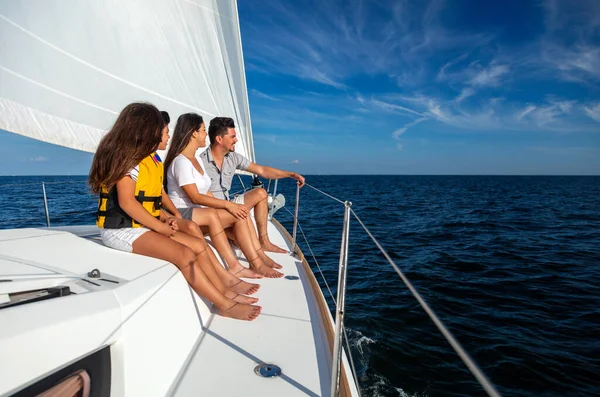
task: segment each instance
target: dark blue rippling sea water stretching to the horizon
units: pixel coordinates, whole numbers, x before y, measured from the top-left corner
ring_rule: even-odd
[[[53,225],[94,221],[85,177],[0,177],[0,228],[45,224],[41,186],[13,185],[42,180],[69,182],[46,186]],[[505,396],[600,395],[600,177],[307,181],[353,202]],[[278,192],[293,211],[292,181]],[[300,224],[334,294],[342,211],[302,189]],[[277,218],[291,230],[285,210]],[[364,395],[485,395],[356,221],[349,267],[346,321]]]

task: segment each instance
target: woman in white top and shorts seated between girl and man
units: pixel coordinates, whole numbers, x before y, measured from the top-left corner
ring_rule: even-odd
[[[204,146],[206,128],[202,116],[195,113],[179,116],[165,160],[169,197],[184,219],[193,220],[203,229],[208,228],[217,251],[234,275],[247,277],[258,273],[269,278],[282,277],[282,273],[272,268],[277,264],[262,251],[248,209],[244,205],[215,198],[210,192],[210,177],[196,158],[196,151]],[[251,269],[243,267],[231,250],[224,233],[224,229],[229,227],[233,229]]]

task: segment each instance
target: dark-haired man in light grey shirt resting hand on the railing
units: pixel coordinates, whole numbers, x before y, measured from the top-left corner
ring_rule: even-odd
[[[208,137],[210,146],[200,154],[200,158],[210,176],[210,190],[215,197],[230,200],[229,189],[236,170],[248,171],[266,179],[293,178],[298,181],[300,187],[304,186],[304,177],[298,173],[255,164],[241,154],[235,153],[238,139],[233,119],[229,117],[212,119],[208,127]],[[269,240],[267,234],[269,208],[265,189],[252,189],[244,195],[237,196],[234,202],[243,204],[248,210],[254,208],[258,239],[265,251],[286,252]]]

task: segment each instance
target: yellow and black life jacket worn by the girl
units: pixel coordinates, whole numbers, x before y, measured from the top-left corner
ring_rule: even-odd
[[[135,198],[156,219],[160,219],[162,205],[162,187],[164,165],[158,154],[152,153],[142,160],[135,183]],[[110,191],[102,188],[98,200],[98,216],[96,225],[104,229],[121,229],[125,227],[142,227],[119,206],[117,186]]]

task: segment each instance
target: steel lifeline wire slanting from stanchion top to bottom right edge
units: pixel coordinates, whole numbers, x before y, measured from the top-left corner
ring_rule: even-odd
[[[352,211],[352,214],[354,214],[354,217],[356,218],[356,220],[360,223],[360,225],[363,227],[363,229],[365,229],[365,232],[367,232],[369,237],[371,237],[371,240],[373,240],[373,242],[375,243],[377,248],[379,248],[379,250],[381,251],[383,256],[385,256],[385,258],[388,260],[390,265],[392,265],[392,267],[394,268],[396,273],[398,273],[398,275],[400,276],[400,278],[402,279],[404,284],[408,287],[410,292],[417,299],[417,301],[419,302],[421,307],[425,310],[425,312],[427,313],[429,318],[434,322],[434,324],[437,326],[437,328],[440,330],[440,332],[444,335],[444,337],[446,338],[448,343],[450,343],[450,345],[452,346],[454,351],[458,354],[458,356],[461,358],[461,360],[465,363],[467,368],[469,368],[469,370],[471,371],[473,376],[475,376],[475,378],[479,381],[479,384],[485,389],[487,394],[491,397],[500,397],[500,393],[498,393],[498,391],[496,390],[494,385],[491,384],[491,382],[488,380],[488,378],[485,376],[485,374],[481,371],[481,369],[479,369],[477,364],[473,361],[473,359],[469,356],[469,354],[463,349],[462,345],[458,342],[458,340],[456,340],[454,338],[454,335],[452,335],[452,333],[446,328],[444,323],[442,323],[442,321],[438,318],[437,314],[435,314],[433,309],[431,309],[429,307],[427,302],[425,302],[425,300],[421,297],[421,294],[419,294],[419,292],[415,289],[415,287],[413,287],[412,283],[404,275],[402,270],[400,270],[398,265],[396,265],[396,263],[394,263],[392,258],[383,249],[381,244],[379,244],[379,241],[377,241],[377,239],[371,234],[369,229],[367,229],[367,227],[362,222],[362,220],[360,220],[358,215],[356,215],[356,212],[354,212],[353,209],[350,209],[350,211]]]

